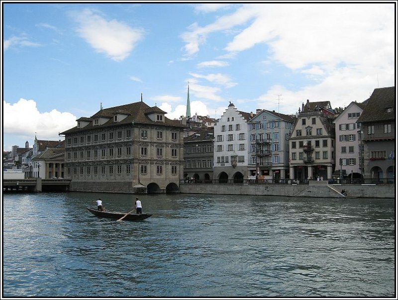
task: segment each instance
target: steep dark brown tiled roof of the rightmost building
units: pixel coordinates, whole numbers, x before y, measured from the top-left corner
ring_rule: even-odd
[[[358,123],[395,120],[395,87],[375,89],[366,101],[368,104],[357,119]],[[387,108],[392,108],[391,112],[387,112]]]

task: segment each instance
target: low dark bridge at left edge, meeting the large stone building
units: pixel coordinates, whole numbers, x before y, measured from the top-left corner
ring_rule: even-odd
[[[3,179],[3,192],[65,192],[69,191],[68,179]]]

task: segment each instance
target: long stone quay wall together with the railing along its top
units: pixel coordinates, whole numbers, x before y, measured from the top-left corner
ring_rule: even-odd
[[[182,180],[185,194],[256,195],[311,198],[395,198],[395,179]],[[345,190],[347,197],[341,194]]]

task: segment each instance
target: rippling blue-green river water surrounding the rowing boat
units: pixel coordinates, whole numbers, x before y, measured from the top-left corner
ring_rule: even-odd
[[[3,195],[3,297],[394,297],[395,200]]]

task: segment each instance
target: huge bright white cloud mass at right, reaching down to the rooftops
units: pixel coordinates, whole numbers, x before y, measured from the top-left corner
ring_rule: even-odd
[[[280,111],[294,113],[306,99],[330,100],[333,107],[362,102],[379,87],[378,76],[380,87],[395,86],[394,24],[394,3],[245,4],[212,23],[191,25],[182,37],[192,55],[210,34],[234,33],[225,44],[226,54],[218,58],[236,58],[266,45],[264,55],[258,56],[263,73],[283,66],[311,82],[302,86],[298,77],[267,88],[257,99],[236,102],[278,110],[278,95],[283,95]]]

